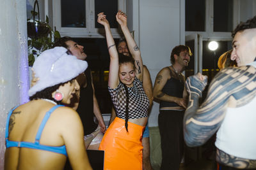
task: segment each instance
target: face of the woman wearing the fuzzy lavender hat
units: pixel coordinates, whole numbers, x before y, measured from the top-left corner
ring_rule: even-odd
[[[61,85],[58,89],[58,91],[63,94],[63,99],[61,100],[61,103],[70,104],[72,97],[76,94],[76,91],[79,89],[80,87],[76,79],[72,80],[71,82],[68,81],[64,85]],[[53,98],[54,94],[55,92],[52,93]]]

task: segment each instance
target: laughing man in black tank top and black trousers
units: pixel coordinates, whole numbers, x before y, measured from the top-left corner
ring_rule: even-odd
[[[163,169],[178,170],[184,152],[183,117],[187,106],[187,92],[182,74],[188,66],[191,50],[175,46],[171,54],[172,66],[164,67],[156,76],[153,95],[160,101],[158,125],[161,135]]]

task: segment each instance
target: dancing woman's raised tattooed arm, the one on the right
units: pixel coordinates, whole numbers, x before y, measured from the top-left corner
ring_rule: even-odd
[[[136,42],[132,38],[132,35],[127,27],[127,16],[122,11],[118,11],[116,14],[116,21],[120,24],[122,32],[124,33],[129,52],[134,58],[134,65],[136,67],[136,77],[143,81],[143,63],[141,59],[140,49],[136,45]]]

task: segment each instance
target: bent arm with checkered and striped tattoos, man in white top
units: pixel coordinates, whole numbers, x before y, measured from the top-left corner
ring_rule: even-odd
[[[195,76],[186,80],[189,94],[184,115],[184,139],[188,146],[200,146],[221,125],[227,106],[243,106],[256,95],[256,69],[252,66],[223,69],[212,80],[207,97],[199,107],[205,83]]]

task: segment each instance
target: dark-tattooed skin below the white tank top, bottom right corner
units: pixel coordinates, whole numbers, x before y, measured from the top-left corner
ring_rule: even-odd
[[[236,167],[239,169],[256,168],[256,160],[234,157],[218,149],[216,152],[216,160],[226,166]]]

